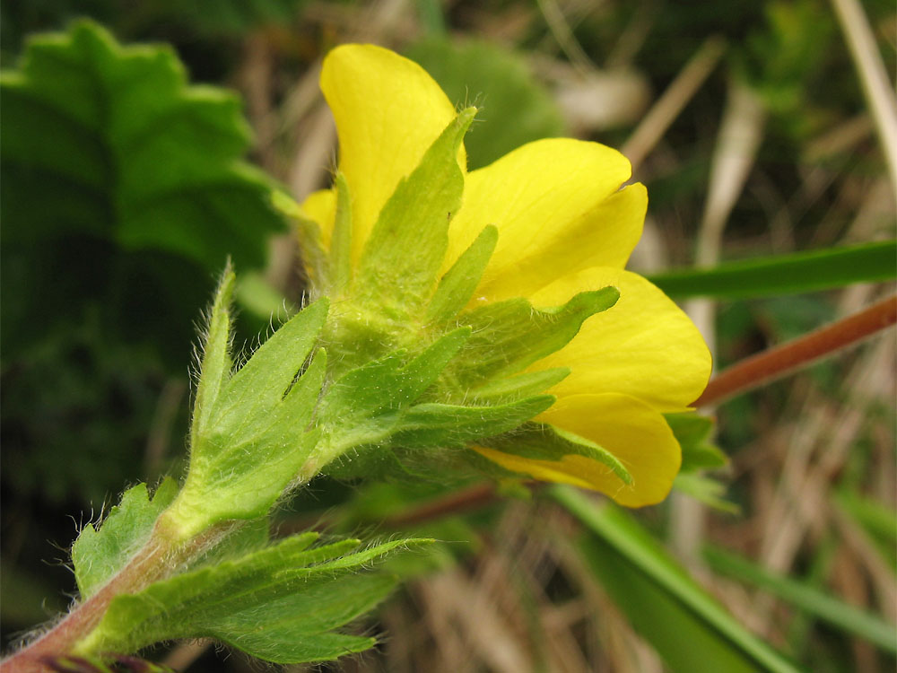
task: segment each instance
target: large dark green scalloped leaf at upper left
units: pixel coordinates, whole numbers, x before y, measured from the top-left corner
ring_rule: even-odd
[[[239,99],[187,86],[173,50],[122,47],[86,21],[30,39],[0,76],[4,243],[89,234],[206,269],[266,259],[283,222],[270,179],[240,162]]]

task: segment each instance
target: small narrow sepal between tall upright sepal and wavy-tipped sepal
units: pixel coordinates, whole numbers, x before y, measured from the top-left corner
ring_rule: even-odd
[[[446,275],[442,276],[436,293],[430,300],[426,314],[428,323],[440,324],[453,319],[470,302],[498,240],[499,230],[490,224],[483,228],[470,247],[457,258]]]

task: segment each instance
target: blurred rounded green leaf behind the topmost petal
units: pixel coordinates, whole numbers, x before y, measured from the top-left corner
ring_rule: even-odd
[[[522,56],[485,41],[439,38],[423,40],[405,55],[432,75],[450,101],[482,104],[482,120],[465,139],[471,169],[530,141],[563,135],[560,109]]]

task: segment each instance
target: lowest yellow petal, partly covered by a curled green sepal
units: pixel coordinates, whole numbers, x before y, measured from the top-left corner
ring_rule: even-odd
[[[627,507],[659,503],[679,471],[679,443],[662,415],[627,395],[575,395],[555,403],[536,420],[579,434],[610,451],[632,476],[631,484],[597,460],[579,455],[533,460],[476,447],[485,458],[541,481],[571,484],[608,494]]]

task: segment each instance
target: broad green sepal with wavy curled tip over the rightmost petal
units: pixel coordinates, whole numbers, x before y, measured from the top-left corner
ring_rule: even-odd
[[[583,321],[614,306],[614,287],[576,294],[553,309],[536,309],[523,298],[488,304],[458,317],[473,330],[450,368],[462,389],[515,374],[561,349],[575,337]]]

